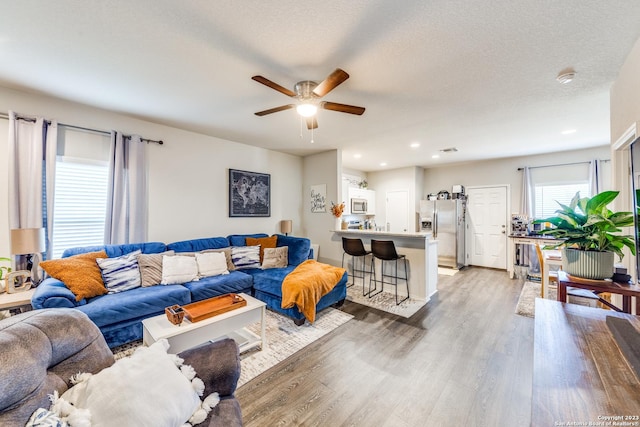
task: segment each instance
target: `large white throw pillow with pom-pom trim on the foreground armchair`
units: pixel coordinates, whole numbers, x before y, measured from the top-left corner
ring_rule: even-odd
[[[198,395],[204,383],[192,367],[167,354],[162,339],[140,347],[131,357],[91,375],[77,374],[75,383],[60,398],[54,393],[51,410],[74,425],[80,416],[90,417],[91,426],[182,426],[202,422],[217,405],[217,393],[204,402]],[[69,407],[71,403],[73,407]],[[88,413],[87,413],[88,411]]]

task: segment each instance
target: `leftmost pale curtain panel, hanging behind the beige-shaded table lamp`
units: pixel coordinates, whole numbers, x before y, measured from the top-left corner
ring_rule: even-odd
[[[18,119],[9,111],[9,225],[12,229],[45,227],[48,242],[53,236],[57,150],[56,121]],[[47,258],[51,246],[47,244]]]

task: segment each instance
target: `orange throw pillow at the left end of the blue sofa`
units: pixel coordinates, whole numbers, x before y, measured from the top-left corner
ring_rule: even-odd
[[[40,267],[51,277],[63,282],[76,296],[76,301],[83,298],[97,297],[107,293],[102,281],[97,258],[108,258],[105,251],[87,252],[69,258],[42,261]]]

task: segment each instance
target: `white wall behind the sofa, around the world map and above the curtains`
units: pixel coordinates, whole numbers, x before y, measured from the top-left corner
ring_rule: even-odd
[[[280,232],[282,219],[293,220],[293,234],[303,228],[300,157],[0,87],[0,111],[8,110],[165,141],[163,146],[148,146],[149,240],[271,234]],[[8,121],[0,119],[0,256],[9,254],[7,138]],[[270,217],[229,218],[229,168],[271,174]]]

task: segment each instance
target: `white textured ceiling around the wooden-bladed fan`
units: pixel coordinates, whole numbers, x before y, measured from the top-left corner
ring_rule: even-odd
[[[639,37],[637,0],[21,0],[0,14],[0,85],[296,155],[340,148],[372,171],[608,144]],[[291,100],[251,76],[293,89],[337,67],[351,78],[324,99],[367,110],[320,111],[313,144],[294,110],[253,114]]]

